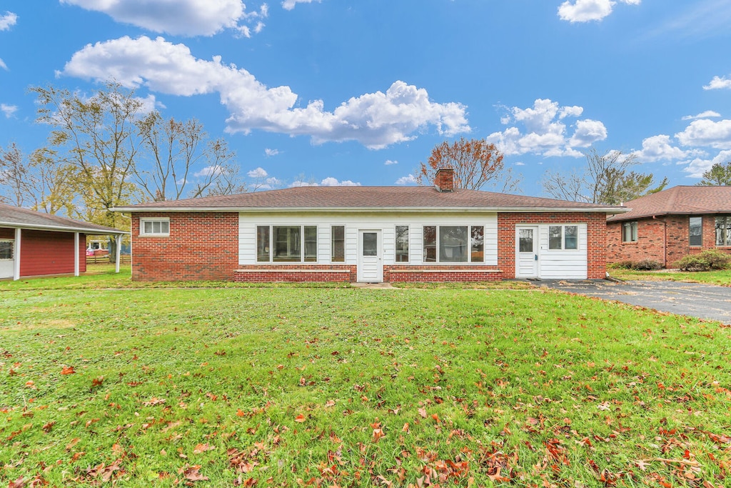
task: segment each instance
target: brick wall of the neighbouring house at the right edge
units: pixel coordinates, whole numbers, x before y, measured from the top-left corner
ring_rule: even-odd
[[[690,217],[702,217],[702,246],[689,244]],[[715,215],[668,215],[656,219],[637,219],[637,242],[622,242],[624,222],[607,223],[607,262],[651,259],[671,268],[689,254],[718,249],[731,254],[731,247],[716,247]],[[667,244],[666,244],[667,243]]]

